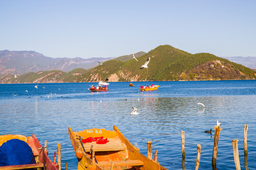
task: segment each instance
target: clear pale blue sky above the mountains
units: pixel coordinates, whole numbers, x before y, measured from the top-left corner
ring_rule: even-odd
[[[0,0],[0,50],[119,57],[169,44],[256,57],[255,0]]]

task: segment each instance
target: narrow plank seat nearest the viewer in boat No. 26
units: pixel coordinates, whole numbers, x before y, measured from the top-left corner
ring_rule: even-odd
[[[101,161],[98,164],[102,167],[110,167],[111,163],[114,164],[114,167],[120,166],[142,166],[144,162],[141,160],[127,160],[127,161]]]

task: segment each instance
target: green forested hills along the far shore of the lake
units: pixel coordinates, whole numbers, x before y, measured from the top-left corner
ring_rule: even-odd
[[[67,73],[51,70],[17,77],[5,74],[0,76],[0,83],[99,82],[106,77],[109,82],[256,79],[256,72],[243,65],[209,53],[191,54],[171,45],[160,45],[148,53],[138,52],[134,54],[138,61],[131,56],[121,56],[104,61],[104,65],[76,68]],[[149,58],[149,68],[140,69]]]

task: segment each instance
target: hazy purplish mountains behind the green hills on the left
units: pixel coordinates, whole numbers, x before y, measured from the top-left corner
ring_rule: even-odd
[[[35,51],[0,51],[0,75],[28,72],[61,70],[71,71],[75,68],[92,68],[100,62],[114,58],[50,58]]]

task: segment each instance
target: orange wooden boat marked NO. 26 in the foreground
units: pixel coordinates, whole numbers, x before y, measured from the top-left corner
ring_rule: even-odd
[[[78,160],[78,170],[167,170],[157,161],[147,158],[114,126],[106,129],[85,129],[73,132],[68,127],[71,143]],[[80,136],[80,137],[79,137]],[[107,138],[106,144],[82,143],[87,137]]]

